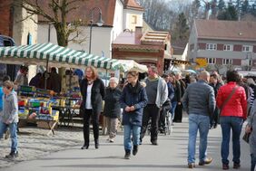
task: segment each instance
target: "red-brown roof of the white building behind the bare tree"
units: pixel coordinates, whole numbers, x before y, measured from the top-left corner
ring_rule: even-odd
[[[71,0],[69,0],[71,1]],[[50,0],[38,0],[40,6],[46,11],[47,14],[53,15],[49,9],[48,3]],[[74,5],[79,6],[77,10],[73,10],[67,15],[67,23],[71,23],[75,20],[90,20],[90,10],[94,7],[101,8],[103,14],[104,26],[113,26],[113,16],[116,0],[87,0],[87,1],[77,1]],[[97,22],[98,12],[94,12],[94,21]],[[47,21],[43,16],[38,17],[39,22]]]

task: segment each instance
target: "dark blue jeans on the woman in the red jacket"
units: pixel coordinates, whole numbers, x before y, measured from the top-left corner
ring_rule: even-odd
[[[240,164],[240,135],[243,119],[239,117],[221,117],[222,127],[222,164],[229,164],[230,138],[232,130],[232,150],[234,163]]]

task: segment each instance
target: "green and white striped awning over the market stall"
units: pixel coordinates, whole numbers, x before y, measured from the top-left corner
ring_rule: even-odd
[[[47,61],[50,66],[54,67],[83,68],[94,66],[109,70],[125,70],[126,68],[118,60],[74,51],[53,43],[0,47],[0,63],[45,66]]]

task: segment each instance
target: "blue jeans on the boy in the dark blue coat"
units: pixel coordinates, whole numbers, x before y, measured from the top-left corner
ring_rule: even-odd
[[[123,125],[123,144],[125,150],[132,149],[131,134],[133,134],[133,146],[138,146],[140,144],[140,126],[134,125]]]

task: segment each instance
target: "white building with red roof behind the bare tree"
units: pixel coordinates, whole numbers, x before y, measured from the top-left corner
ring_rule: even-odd
[[[80,8],[67,17],[67,22],[71,23],[75,19],[90,21],[93,13],[94,25],[92,29],[91,52],[95,55],[112,57],[111,44],[113,40],[123,32],[124,29],[133,30],[135,26],[143,26],[143,8],[134,0],[88,0],[80,2]],[[47,6],[45,3],[44,6]],[[102,10],[103,26],[99,27],[97,22],[98,12],[91,11],[94,7]],[[39,16],[38,43],[57,43],[54,26]],[[89,52],[90,26],[81,26],[78,39],[84,39],[83,43],[68,44],[69,48],[78,51]],[[73,37],[74,35],[71,35]]]

